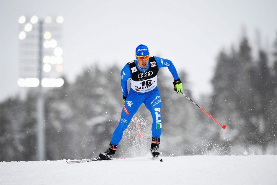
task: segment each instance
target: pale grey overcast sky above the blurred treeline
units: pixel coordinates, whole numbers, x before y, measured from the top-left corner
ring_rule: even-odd
[[[212,91],[210,80],[219,51],[229,50],[232,44],[237,47],[243,32],[256,47],[259,30],[262,48],[271,52],[276,10],[276,0],[1,0],[0,101],[20,91],[18,19],[22,15],[64,17],[63,67],[70,81],[94,63],[123,68],[134,59],[136,46],[145,44],[151,55],[172,60],[177,71],[187,72],[187,86],[197,98]]]

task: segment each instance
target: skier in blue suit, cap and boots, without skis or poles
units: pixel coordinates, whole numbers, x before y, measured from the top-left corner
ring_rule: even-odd
[[[161,136],[161,97],[157,87],[157,73],[160,68],[168,67],[174,78],[174,88],[177,93],[183,92],[182,82],[178,76],[172,61],[151,56],[146,45],[139,45],[136,48],[136,60],[128,62],[121,71],[121,90],[123,93],[124,106],[121,112],[120,122],[113,132],[109,148],[99,154],[103,160],[113,157],[118,143],[122,139],[123,132],[127,128],[133,115],[137,112],[142,103],[151,112],[152,142],[151,154],[153,159],[160,155],[159,144]],[[128,94],[127,80],[131,78],[131,88]]]

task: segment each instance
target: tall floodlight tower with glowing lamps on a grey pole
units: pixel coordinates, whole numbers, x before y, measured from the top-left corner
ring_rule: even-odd
[[[61,87],[64,80],[59,78],[63,70],[61,30],[64,19],[57,16],[53,21],[36,15],[27,21],[19,18],[20,40],[20,87],[36,87],[37,96],[37,159],[45,160],[45,124],[43,87]]]

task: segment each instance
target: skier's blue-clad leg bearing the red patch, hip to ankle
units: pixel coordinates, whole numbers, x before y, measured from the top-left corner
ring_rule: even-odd
[[[128,127],[133,115],[137,112],[143,103],[142,94],[129,93],[121,112],[120,122],[113,132],[111,144],[118,145],[122,139],[124,130]]]

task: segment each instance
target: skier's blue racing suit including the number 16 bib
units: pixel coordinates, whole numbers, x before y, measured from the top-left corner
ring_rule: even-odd
[[[111,144],[118,145],[122,139],[124,130],[128,127],[133,115],[137,112],[142,103],[151,112],[152,136],[160,138],[161,136],[161,96],[156,82],[156,74],[162,67],[168,67],[174,80],[179,78],[176,68],[172,61],[150,57],[145,69],[139,67],[138,61],[134,60],[127,63],[121,71],[121,90],[123,96],[127,97],[121,112],[120,122],[113,132]],[[152,75],[155,76],[150,78]],[[148,78],[147,78],[148,77]],[[127,80],[131,78],[131,88],[128,94]],[[149,79],[150,78],[150,79]]]

